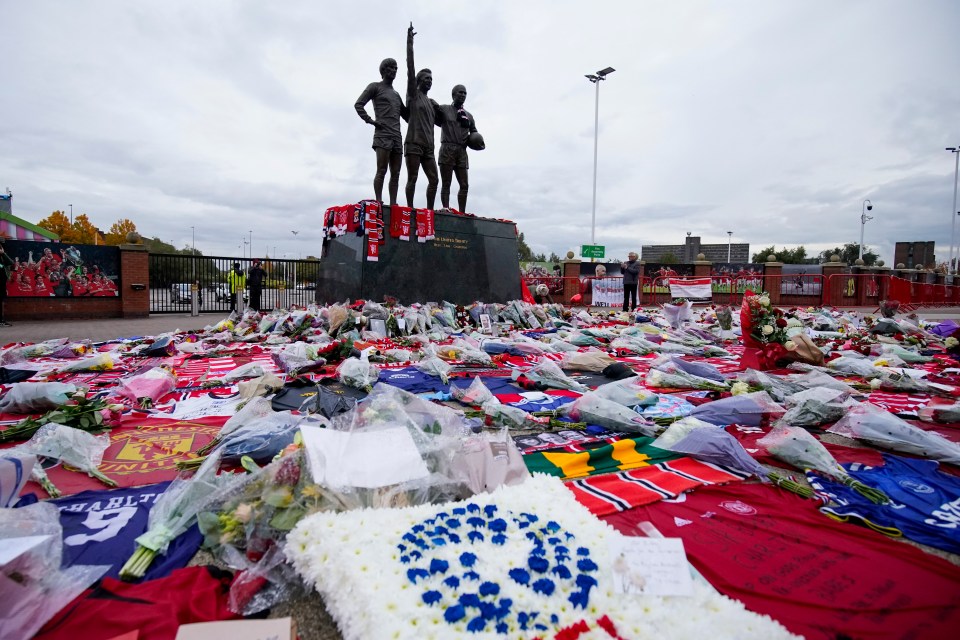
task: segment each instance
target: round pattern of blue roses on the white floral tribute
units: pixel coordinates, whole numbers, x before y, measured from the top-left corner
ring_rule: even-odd
[[[508,542],[527,553],[525,562],[514,562],[503,575],[496,570],[498,551]],[[557,598],[568,594],[574,609],[586,609],[597,586],[597,564],[576,536],[552,520],[501,512],[496,505],[471,502],[440,512],[411,527],[397,550],[407,579],[424,589],[423,602],[441,608],[448,624],[474,633],[556,628],[560,620],[552,611],[562,603]]]

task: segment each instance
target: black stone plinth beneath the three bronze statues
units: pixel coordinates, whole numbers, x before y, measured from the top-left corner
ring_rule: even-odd
[[[320,260],[317,302],[380,302],[393,296],[402,304],[443,300],[469,304],[520,298],[512,222],[437,212],[435,238],[421,243],[415,237],[390,237],[390,208],[384,209],[385,242],[378,261],[366,259],[363,236],[347,234],[327,244]]]

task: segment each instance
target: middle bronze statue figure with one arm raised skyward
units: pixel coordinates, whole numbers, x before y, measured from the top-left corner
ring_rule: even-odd
[[[407,137],[403,145],[403,155],[407,160],[407,206],[413,208],[413,193],[417,186],[420,167],[427,176],[427,209],[433,209],[437,197],[437,160],[433,153],[433,127],[436,124],[439,108],[432,98],[427,96],[433,86],[433,72],[421,69],[414,74],[413,65],[413,23],[407,29]]]

